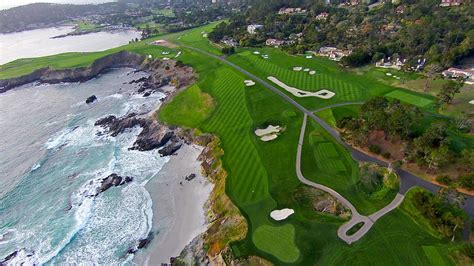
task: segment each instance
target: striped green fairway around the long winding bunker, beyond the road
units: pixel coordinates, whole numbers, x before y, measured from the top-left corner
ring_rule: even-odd
[[[261,55],[253,54],[255,50],[258,50],[261,54],[267,54],[269,59],[263,59]],[[333,98],[324,100],[314,97],[298,98],[282,89],[310,110],[335,103],[364,101],[375,95],[394,90],[394,87],[381,83],[376,79],[347,71],[328,59],[320,57],[306,59],[302,56],[287,55],[273,48],[241,49],[241,52],[230,56],[229,60],[262,79],[274,76],[282,82],[302,90],[328,89],[336,93]],[[311,76],[308,72],[293,71],[294,66],[315,70],[316,74]]]

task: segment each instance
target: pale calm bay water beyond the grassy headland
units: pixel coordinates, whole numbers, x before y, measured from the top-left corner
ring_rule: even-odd
[[[73,27],[58,27],[0,34],[0,65],[20,58],[66,52],[95,52],[127,44],[139,38],[137,31],[95,32],[51,39],[67,34]]]

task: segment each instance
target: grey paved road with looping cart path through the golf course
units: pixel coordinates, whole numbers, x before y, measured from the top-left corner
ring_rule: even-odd
[[[366,153],[363,153],[363,152],[361,152],[357,149],[354,149],[352,146],[350,146],[349,144],[347,144],[346,142],[344,142],[342,140],[341,136],[339,135],[339,132],[337,132],[334,128],[332,128],[325,121],[323,121],[321,118],[317,117],[314,114],[314,112],[321,111],[321,110],[324,110],[324,109],[327,109],[327,108],[332,108],[332,107],[336,107],[336,106],[344,106],[344,105],[361,104],[360,102],[340,103],[340,104],[327,106],[327,107],[324,107],[324,108],[321,108],[321,109],[318,109],[318,110],[315,110],[315,111],[310,111],[310,110],[306,109],[305,107],[303,107],[298,102],[296,102],[295,100],[293,100],[290,96],[285,94],[283,91],[275,88],[273,85],[271,85],[267,81],[257,77],[256,75],[248,72],[247,70],[241,68],[240,66],[238,66],[238,65],[236,65],[232,62],[229,62],[228,60],[225,59],[224,56],[217,56],[217,55],[211,54],[209,52],[206,52],[206,51],[203,51],[201,49],[191,47],[191,46],[188,46],[188,45],[184,45],[184,44],[180,44],[180,45],[182,47],[188,48],[190,50],[194,50],[196,52],[199,52],[199,53],[205,54],[209,57],[212,57],[214,59],[217,59],[220,62],[236,69],[237,71],[241,72],[242,74],[244,74],[244,75],[248,76],[249,78],[253,79],[254,81],[260,83],[261,85],[263,85],[265,88],[269,89],[270,91],[278,94],[285,101],[289,102],[294,107],[296,107],[297,109],[299,109],[301,112],[304,113],[303,125],[302,125],[302,128],[301,128],[300,139],[299,139],[298,148],[297,148],[298,151],[297,151],[297,154],[296,154],[296,173],[297,173],[298,179],[302,183],[304,183],[306,185],[309,185],[309,186],[312,186],[314,188],[321,189],[321,190],[331,194],[332,196],[337,198],[339,201],[341,201],[341,203],[343,205],[345,205],[346,207],[348,207],[351,210],[351,212],[352,212],[351,220],[349,220],[349,222],[343,224],[338,229],[339,238],[344,240],[346,243],[351,244],[351,243],[359,240],[361,237],[363,237],[370,230],[370,228],[372,227],[372,225],[375,221],[377,221],[378,219],[380,219],[381,217],[383,217],[384,215],[386,215],[387,213],[389,213],[393,209],[397,208],[401,204],[401,202],[403,201],[403,199],[405,197],[404,196],[405,193],[408,190],[410,190],[411,188],[413,188],[415,186],[419,186],[419,187],[423,187],[423,188],[425,188],[425,189],[427,189],[427,190],[429,190],[433,193],[436,193],[440,190],[441,187],[439,187],[439,186],[437,186],[433,183],[430,183],[430,182],[428,182],[424,179],[421,179],[421,178],[419,178],[419,177],[417,177],[417,176],[415,176],[415,175],[413,175],[413,174],[411,174],[411,173],[409,173],[409,172],[407,172],[403,169],[397,169],[396,172],[400,177],[400,191],[396,195],[394,200],[391,203],[389,203],[387,206],[385,206],[384,208],[380,209],[379,211],[371,214],[370,216],[364,216],[364,215],[359,214],[359,212],[352,205],[352,203],[350,203],[346,198],[344,198],[342,195],[340,195],[335,190],[306,179],[303,176],[302,172],[301,172],[301,167],[300,166],[301,166],[301,151],[302,151],[302,146],[303,146],[303,141],[304,141],[304,132],[305,132],[305,129],[306,129],[306,124],[307,124],[307,118],[308,117],[310,117],[315,122],[317,122],[329,134],[331,134],[331,136],[333,136],[336,139],[337,142],[342,144],[348,151],[350,151],[352,157],[355,160],[357,160],[359,162],[372,162],[372,163],[376,163],[376,164],[378,164],[380,166],[384,166],[384,167],[389,166],[388,163],[385,162],[385,161],[382,161],[378,158],[372,157],[372,156],[370,156]],[[466,195],[466,197],[467,198],[466,198],[466,201],[464,203],[464,210],[472,218],[472,217],[474,217],[474,197],[469,196],[469,195]],[[354,225],[356,225],[358,223],[361,223],[361,222],[363,222],[364,225],[355,234],[350,235],[350,236],[347,235],[347,231],[350,228],[352,228]]]

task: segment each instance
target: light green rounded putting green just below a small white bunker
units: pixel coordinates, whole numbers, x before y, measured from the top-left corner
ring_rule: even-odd
[[[255,230],[252,238],[257,248],[282,262],[292,263],[300,256],[300,251],[295,246],[295,228],[291,224],[278,227],[262,225]]]

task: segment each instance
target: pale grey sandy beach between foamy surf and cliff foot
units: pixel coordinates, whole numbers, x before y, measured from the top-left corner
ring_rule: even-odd
[[[153,200],[155,238],[134,258],[137,265],[169,263],[191,240],[207,229],[204,204],[212,184],[200,174],[202,148],[183,145],[176,156],[146,185]],[[191,181],[185,177],[196,174]]]

